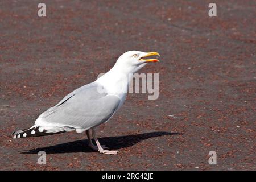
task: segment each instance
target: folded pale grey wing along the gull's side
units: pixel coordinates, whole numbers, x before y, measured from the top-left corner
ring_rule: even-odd
[[[75,90],[75,93],[42,113],[35,124],[45,129],[89,129],[108,121],[117,110],[120,99],[115,95],[99,93],[97,88],[97,84],[88,84],[77,92]]]

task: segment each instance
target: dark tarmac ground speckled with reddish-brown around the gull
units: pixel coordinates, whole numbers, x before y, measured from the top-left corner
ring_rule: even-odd
[[[255,1],[214,1],[216,18],[210,1],[44,1],[46,18],[39,2],[0,2],[0,169],[256,169]],[[141,71],[159,73],[160,93],[129,94],[98,128],[118,155],[85,133],[11,138],[132,49],[162,55]]]

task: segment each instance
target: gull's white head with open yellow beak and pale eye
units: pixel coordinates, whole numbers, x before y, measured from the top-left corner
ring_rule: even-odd
[[[128,51],[117,60],[115,67],[123,72],[135,73],[147,63],[159,62],[151,56],[160,56],[158,52]]]

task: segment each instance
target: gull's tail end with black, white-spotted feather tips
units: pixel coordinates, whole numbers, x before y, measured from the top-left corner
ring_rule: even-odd
[[[64,133],[66,131],[67,131],[67,128],[65,127],[59,127],[52,130],[44,130],[44,129],[40,129],[40,126],[34,125],[27,130],[14,131],[13,138],[40,137],[45,135]]]

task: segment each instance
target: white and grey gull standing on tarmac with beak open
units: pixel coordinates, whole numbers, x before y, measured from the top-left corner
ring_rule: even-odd
[[[96,127],[108,122],[125,101],[129,82],[133,74],[144,65],[159,62],[146,59],[160,56],[158,52],[128,51],[123,53],[110,69],[96,81],[81,86],[69,93],[55,106],[40,114],[35,124],[26,130],[17,130],[13,138],[39,137],[76,130],[86,132],[89,147],[101,154],[114,154],[118,151],[106,150],[96,137]],[[96,142],[95,146],[90,137]]]

